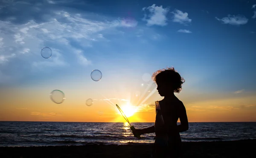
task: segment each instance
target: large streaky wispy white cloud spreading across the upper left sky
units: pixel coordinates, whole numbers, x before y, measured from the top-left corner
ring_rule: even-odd
[[[82,51],[76,50],[76,48],[70,45],[70,41],[75,40],[83,42],[84,46],[91,46],[92,41],[103,39],[103,35],[99,35],[100,31],[117,27],[135,27],[137,26],[137,21],[134,19],[118,18],[113,21],[101,22],[88,20],[79,14],[55,11],[50,21],[46,23],[36,23],[30,20],[29,23],[18,25],[0,21],[0,26],[3,31],[0,38],[0,61],[8,61],[7,58],[9,58],[10,53],[40,54],[42,46],[46,45],[45,43],[53,42],[55,45],[63,45],[64,50],[68,53],[76,54],[77,60],[81,65],[89,65],[91,61],[83,55]],[[13,37],[13,40],[10,37]],[[11,48],[12,50],[9,50]],[[20,51],[17,52],[17,50]],[[63,50],[59,50],[59,52],[61,51]],[[61,54],[56,56],[59,59],[58,63],[64,63],[64,58],[60,61]],[[34,62],[32,65],[35,65]],[[49,65],[62,66],[63,64],[49,63]]]

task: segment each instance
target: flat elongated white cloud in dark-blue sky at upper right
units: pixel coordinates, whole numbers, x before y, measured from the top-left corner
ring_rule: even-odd
[[[223,24],[230,24],[230,25],[244,25],[247,24],[248,19],[243,15],[227,15],[227,17],[223,17],[219,19],[215,17],[218,21],[221,21]]]

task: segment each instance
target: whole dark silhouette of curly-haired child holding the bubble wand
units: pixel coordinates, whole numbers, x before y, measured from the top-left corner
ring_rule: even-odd
[[[164,99],[156,103],[156,120],[152,127],[137,129],[137,135],[155,133],[153,158],[178,158],[181,153],[180,132],[189,129],[186,108],[174,93],[181,91],[185,80],[174,68],[161,69],[153,73],[152,79]],[[180,125],[177,125],[180,118]]]

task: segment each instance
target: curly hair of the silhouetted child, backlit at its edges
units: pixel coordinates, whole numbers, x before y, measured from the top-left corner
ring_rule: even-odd
[[[171,83],[174,93],[180,93],[182,90],[182,84],[185,82],[183,77],[181,77],[173,67],[157,70],[153,73],[152,79],[156,83]]]

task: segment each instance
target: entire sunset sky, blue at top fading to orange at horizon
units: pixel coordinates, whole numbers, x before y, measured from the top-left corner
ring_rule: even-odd
[[[256,6],[220,3],[1,1],[0,121],[154,122],[166,67],[189,122],[256,121]]]

